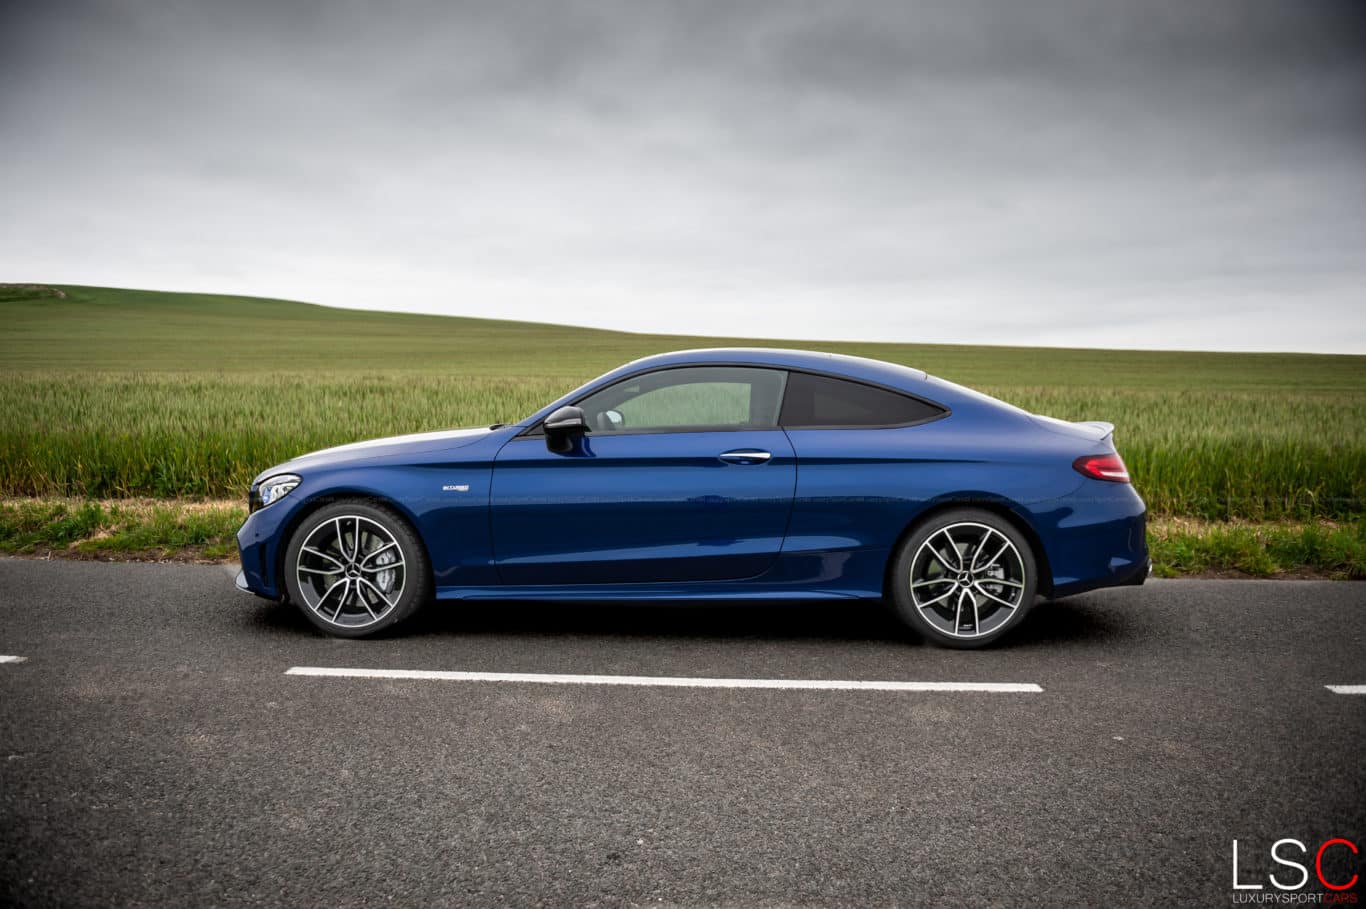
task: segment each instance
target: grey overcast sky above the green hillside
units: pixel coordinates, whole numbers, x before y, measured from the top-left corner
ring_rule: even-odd
[[[0,280],[1366,353],[1358,0],[10,0],[0,141]]]

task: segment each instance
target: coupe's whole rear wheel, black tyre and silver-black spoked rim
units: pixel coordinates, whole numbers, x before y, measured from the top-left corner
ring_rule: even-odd
[[[1038,592],[1038,569],[1015,525],[964,507],[917,526],[896,552],[888,584],[893,611],[908,627],[940,647],[973,649],[1024,621]]]

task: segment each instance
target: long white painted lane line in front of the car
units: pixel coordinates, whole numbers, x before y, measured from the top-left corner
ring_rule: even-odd
[[[686,678],[669,675],[556,675],[544,673],[456,673],[445,670],[369,670],[292,666],[285,675],[389,678],[440,682],[531,682],[540,685],[637,685],[647,688],[765,688],[817,692],[990,692],[1038,694],[1033,682],[863,682],[856,679]]]

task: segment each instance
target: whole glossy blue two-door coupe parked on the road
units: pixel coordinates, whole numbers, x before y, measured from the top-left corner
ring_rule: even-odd
[[[262,472],[238,586],[342,637],[433,597],[880,599],[981,647],[1038,596],[1147,577],[1113,429],[876,359],[661,354],[515,424]]]

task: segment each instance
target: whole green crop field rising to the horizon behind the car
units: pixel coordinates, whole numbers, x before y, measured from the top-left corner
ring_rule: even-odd
[[[0,286],[0,495],[239,499],[303,451],[516,420],[627,359],[734,344],[1108,420],[1160,514],[1366,513],[1366,357],[755,342],[67,286]]]

